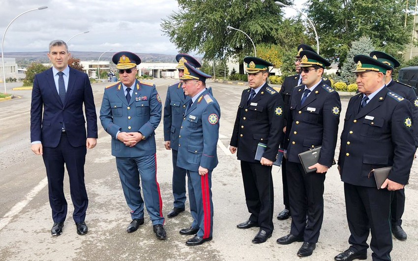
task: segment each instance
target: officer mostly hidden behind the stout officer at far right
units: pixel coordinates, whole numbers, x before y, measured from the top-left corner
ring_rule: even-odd
[[[398,67],[400,64],[399,62],[391,57],[390,55],[380,52],[380,51],[373,51],[370,53],[370,57],[377,59],[378,61],[390,65],[392,67],[390,70],[386,72],[386,80],[385,84],[388,89],[401,97],[409,100],[412,106],[412,117],[413,122],[418,122],[418,98],[415,95],[414,90],[411,86],[394,81],[392,79],[393,69]],[[414,138],[415,138],[415,150],[418,147],[418,127],[414,128]],[[392,223],[392,233],[398,240],[406,240],[407,234],[401,227],[402,225],[402,215],[405,210],[405,190],[397,190],[392,193],[392,202],[390,203],[390,215],[391,215],[391,223]]]

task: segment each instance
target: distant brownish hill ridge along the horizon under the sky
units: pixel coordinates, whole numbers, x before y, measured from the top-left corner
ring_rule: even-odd
[[[10,52],[4,53],[4,57],[16,58],[19,67],[27,67],[31,63],[48,63],[47,51],[45,52]],[[102,52],[71,52],[71,56],[82,61],[96,61]],[[113,52],[102,55],[100,61],[110,61]],[[176,63],[175,55],[166,54],[137,54],[143,63]]]

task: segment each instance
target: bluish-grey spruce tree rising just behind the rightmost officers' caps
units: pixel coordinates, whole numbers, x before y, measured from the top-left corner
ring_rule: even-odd
[[[368,37],[360,37],[357,41],[354,41],[341,68],[341,80],[347,84],[354,83],[356,80],[356,74],[352,72],[356,69],[356,63],[353,60],[354,56],[358,54],[368,56],[374,50],[373,43]]]

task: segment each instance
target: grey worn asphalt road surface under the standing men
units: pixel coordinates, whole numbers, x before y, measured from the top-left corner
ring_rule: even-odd
[[[155,79],[164,102],[170,79]],[[108,83],[93,84],[97,113]],[[301,243],[282,246],[276,239],[290,231],[291,220],[274,218],[273,236],[264,244],[251,243],[257,228],[241,230],[236,225],[248,219],[239,161],[227,149],[233,129],[236,109],[243,86],[215,83],[213,95],[220,103],[219,164],[212,175],[214,205],[213,240],[201,246],[188,247],[189,238],[179,234],[191,224],[187,210],[174,219],[166,219],[168,238],[160,241],[152,232],[148,214],[138,231],[128,234],[129,209],[123,197],[115,158],[111,156],[110,136],[99,125],[97,146],[88,151],[86,186],[90,199],[86,223],[89,233],[76,233],[71,214],[68,178],[64,187],[68,201],[68,216],[62,235],[52,237],[51,209],[48,202],[46,174],[40,156],[30,151],[30,91],[10,91],[21,98],[0,102],[0,260],[299,260],[296,253]],[[9,88],[8,88],[9,90]],[[342,100],[342,115],[348,99]],[[343,117],[339,131],[342,131]],[[171,151],[164,148],[162,122],[156,130],[157,179],[163,199],[163,213],[172,208]],[[337,148],[339,147],[339,142]],[[335,152],[338,155],[338,149]],[[418,260],[418,163],[415,160],[410,184],[406,188],[406,210],[403,228],[408,233],[405,242],[393,240],[393,260]],[[274,213],[283,209],[281,171],[273,167]],[[333,260],[348,248],[349,230],[345,215],[343,183],[336,167],[327,173],[325,181],[325,214],[321,236],[311,257],[303,260]],[[368,251],[371,260],[371,251]]]

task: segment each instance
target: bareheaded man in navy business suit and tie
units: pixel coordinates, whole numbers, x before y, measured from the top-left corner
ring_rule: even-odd
[[[84,183],[87,149],[96,146],[97,117],[90,80],[86,73],[68,66],[68,47],[62,40],[49,44],[52,68],[35,75],[30,106],[31,150],[42,155],[48,177],[53,236],[62,233],[67,216],[63,191],[64,163],[70,180],[73,219],[77,233],[84,235],[89,203]],[[87,119],[87,135],[83,114]]]

